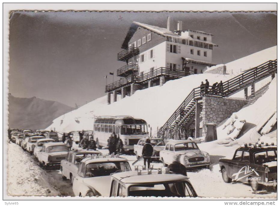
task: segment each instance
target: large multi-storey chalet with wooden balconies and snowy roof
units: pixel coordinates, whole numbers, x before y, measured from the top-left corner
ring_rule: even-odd
[[[183,30],[182,22],[177,22],[177,30],[133,22],[122,44],[117,60],[126,65],[117,70],[121,77],[106,85],[108,104],[117,95],[124,98],[138,89],[163,85],[168,80],[191,74],[200,74],[212,64],[213,34]]]

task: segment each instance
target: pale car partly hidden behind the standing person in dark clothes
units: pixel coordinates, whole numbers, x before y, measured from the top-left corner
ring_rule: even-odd
[[[142,150],[144,147],[144,144],[146,144],[146,139],[148,138],[142,138],[138,141],[137,144],[134,144],[134,153],[136,155],[136,158],[139,158],[142,156]],[[152,156],[152,159],[159,160],[160,159],[160,151],[164,149],[165,143],[163,139],[160,138],[149,138],[151,140],[151,145],[153,145],[154,153]]]

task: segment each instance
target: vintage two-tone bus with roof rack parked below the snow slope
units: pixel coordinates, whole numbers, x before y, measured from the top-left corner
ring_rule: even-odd
[[[148,137],[145,120],[130,116],[95,118],[93,135],[97,147],[107,147],[108,139],[113,132],[123,141],[123,152],[133,152],[134,144],[137,144],[139,139]]]

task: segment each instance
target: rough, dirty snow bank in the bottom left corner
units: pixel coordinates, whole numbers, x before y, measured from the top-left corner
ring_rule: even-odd
[[[58,196],[45,180],[45,172],[32,162],[30,155],[16,144],[8,144],[9,196]]]

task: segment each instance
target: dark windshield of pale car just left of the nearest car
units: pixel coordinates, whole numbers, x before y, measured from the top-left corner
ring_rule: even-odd
[[[107,176],[118,171],[130,170],[128,162],[98,162],[87,164],[86,177]]]

